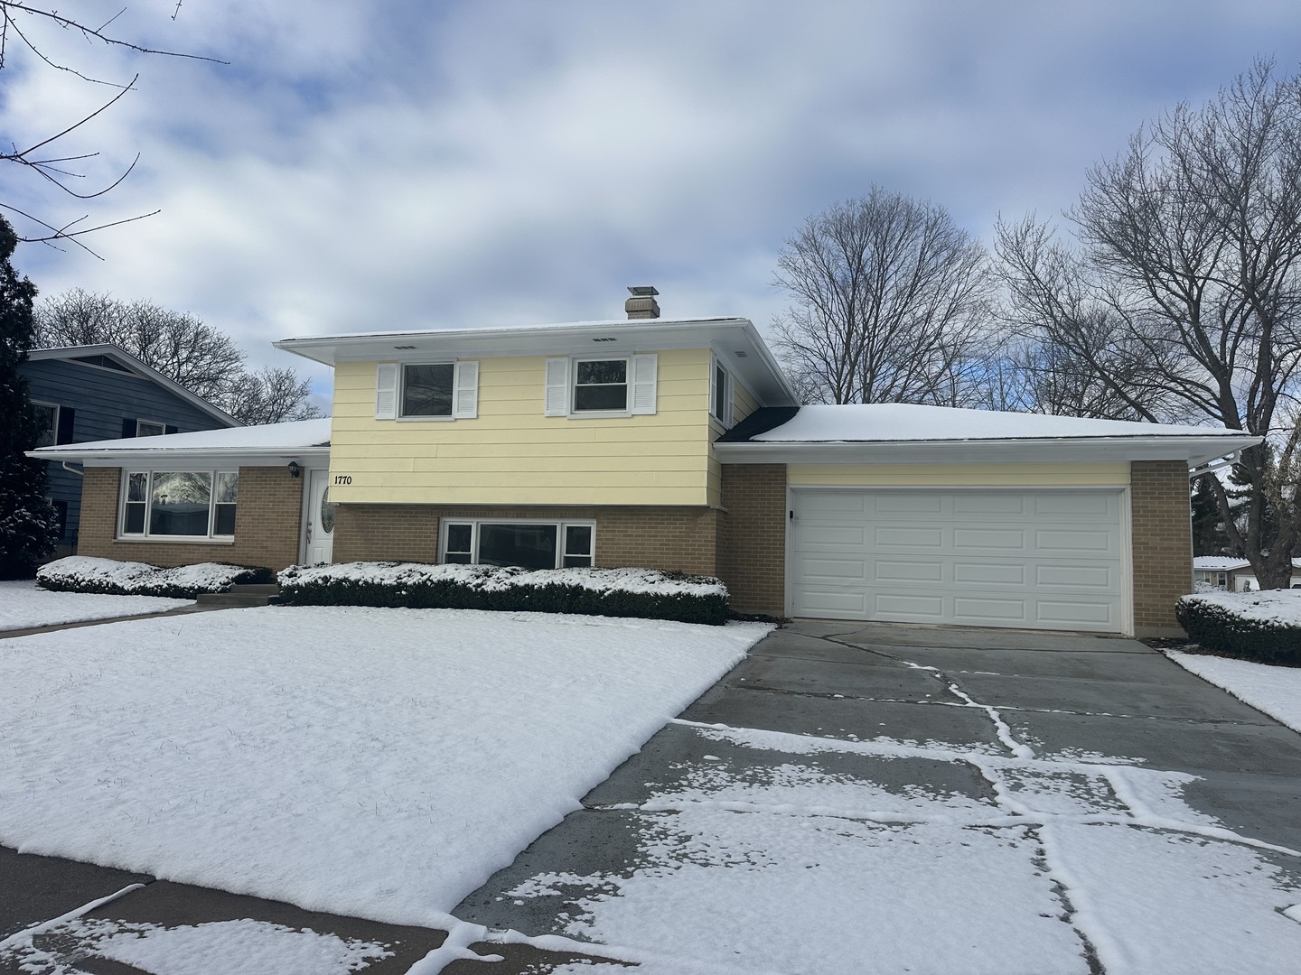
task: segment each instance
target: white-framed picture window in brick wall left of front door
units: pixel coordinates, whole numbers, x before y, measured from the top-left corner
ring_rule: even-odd
[[[235,533],[234,471],[131,471],[122,491],[122,534],[229,538]]]

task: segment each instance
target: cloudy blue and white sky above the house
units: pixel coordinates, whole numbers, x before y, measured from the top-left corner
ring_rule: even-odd
[[[271,348],[289,335],[621,317],[636,283],[667,316],[766,325],[809,213],[877,183],[987,239],[1000,212],[1060,213],[1145,120],[1254,57],[1301,70],[1296,0],[174,5],[130,0],[109,32],[229,64],[27,27],[52,60],[139,74],[61,143],[100,152],[78,183],[141,161],[90,203],[0,168],[0,202],[161,212],[88,238],[103,260],[23,244],[16,263],[43,294],[194,312],[277,365],[307,365]],[[111,96],[10,38],[5,143]]]

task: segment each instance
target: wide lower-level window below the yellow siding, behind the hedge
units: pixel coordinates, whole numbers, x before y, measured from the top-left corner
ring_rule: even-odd
[[[592,521],[446,520],[442,560],[535,569],[591,566],[595,538]]]

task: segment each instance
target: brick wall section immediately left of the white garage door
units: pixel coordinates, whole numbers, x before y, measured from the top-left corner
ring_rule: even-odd
[[[718,575],[740,612],[786,615],[786,465],[723,464]]]

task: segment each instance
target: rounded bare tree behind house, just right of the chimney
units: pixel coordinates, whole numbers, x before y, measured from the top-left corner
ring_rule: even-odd
[[[989,311],[986,255],[948,212],[879,187],[809,217],[778,259],[775,321],[812,402],[969,400]]]

